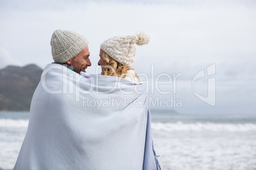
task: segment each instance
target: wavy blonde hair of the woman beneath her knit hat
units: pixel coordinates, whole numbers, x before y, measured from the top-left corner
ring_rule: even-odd
[[[103,71],[101,72],[102,75],[110,75],[125,78],[127,76],[128,70],[134,70],[127,65],[122,65],[121,63],[117,62],[104,51],[102,59],[107,63],[106,66],[103,66]],[[139,77],[136,73],[134,75],[134,78],[137,78],[139,80]]]

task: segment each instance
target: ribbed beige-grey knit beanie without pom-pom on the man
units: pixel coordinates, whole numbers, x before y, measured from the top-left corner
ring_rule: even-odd
[[[55,30],[52,34],[52,58],[65,63],[80,53],[88,44],[85,37],[69,30]]]

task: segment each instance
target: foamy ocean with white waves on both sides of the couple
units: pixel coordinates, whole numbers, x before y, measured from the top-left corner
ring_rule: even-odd
[[[28,119],[0,112],[0,169],[13,169]],[[152,137],[162,169],[256,169],[256,115],[152,110]]]

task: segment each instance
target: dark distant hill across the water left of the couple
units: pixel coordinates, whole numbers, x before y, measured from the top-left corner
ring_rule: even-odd
[[[28,111],[43,70],[31,64],[0,70],[0,110]]]

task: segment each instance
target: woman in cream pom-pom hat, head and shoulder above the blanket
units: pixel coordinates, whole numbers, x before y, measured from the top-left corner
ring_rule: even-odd
[[[98,65],[102,67],[102,75],[110,75],[125,78],[139,84],[139,77],[131,68],[134,62],[136,48],[148,44],[150,36],[145,32],[140,32],[133,36],[117,36],[104,41],[99,52]]]

